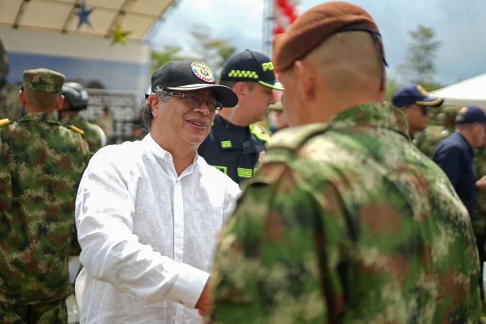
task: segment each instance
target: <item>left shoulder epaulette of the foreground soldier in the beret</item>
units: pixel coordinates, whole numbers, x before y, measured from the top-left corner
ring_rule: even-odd
[[[308,138],[323,133],[328,128],[328,124],[319,123],[280,130],[272,136],[272,140],[268,144],[267,149],[287,148],[294,151],[302,146]]]

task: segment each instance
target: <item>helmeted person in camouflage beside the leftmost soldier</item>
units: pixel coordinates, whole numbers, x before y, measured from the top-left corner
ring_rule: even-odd
[[[107,138],[101,127],[79,114],[79,111],[88,108],[90,100],[88,92],[77,82],[66,82],[62,86],[61,94],[64,96],[64,104],[59,110],[61,123],[82,130],[90,146],[91,154],[94,154],[106,145]]]

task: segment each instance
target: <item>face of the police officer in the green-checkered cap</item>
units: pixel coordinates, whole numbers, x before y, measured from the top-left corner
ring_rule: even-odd
[[[253,90],[246,89],[249,91],[248,97],[245,103],[245,112],[252,123],[262,120],[265,118],[268,112],[268,106],[275,103],[275,98],[273,97],[273,91],[271,88],[255,83]]]

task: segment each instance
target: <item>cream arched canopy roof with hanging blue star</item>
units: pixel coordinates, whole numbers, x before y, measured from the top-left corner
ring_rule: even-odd
[[[175,0],[0,0],[0,26],[96,37],[110,37],[120,28],[127,33],[127,39],[140,42],[176,3]]]

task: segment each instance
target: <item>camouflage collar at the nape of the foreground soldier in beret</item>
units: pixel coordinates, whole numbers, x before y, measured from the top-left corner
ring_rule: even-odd
[[[329,128],[349,128],[353,126],[385,127],[408,137],[405,115],[387,104],[369,103],[348,108],[329,119]]]

